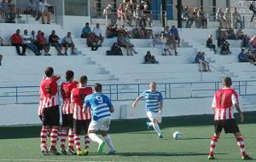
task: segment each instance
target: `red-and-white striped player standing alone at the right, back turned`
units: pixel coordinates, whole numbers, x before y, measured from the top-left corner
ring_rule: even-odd
[[[244,121],[243,113],[239,107],[238,95],[236,90],[231,88],[231,85],[231,78],[224,78],[224,88],[218,90],[213,97],[212,111],[214,113],[214,134],[212,136],[208,159],[215,159],[214,148],[216,148],[218,137],[223,129],[225,133],[233,133],[236,136],[237,145],[241,151],[241,159],[253,159],[246,153],[241,132],[233,115],[235,107],[236,111],[240,114],[241,123]]]

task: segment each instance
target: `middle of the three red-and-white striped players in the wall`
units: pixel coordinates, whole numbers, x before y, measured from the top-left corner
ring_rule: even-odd
[[[61,140],[61,153],[62,154],[76,154],[74,151],[74,140],[73,140],[73,107],[71,106],[71,90],[77,88],[79,82],[73,81],[74,72],[67,70],[66,82],[61,84],[61,97],[63,104],[61,107],[62,114],[62,128],[60,134]],[[66,138],[68,134],[68,148],[66,151]]]

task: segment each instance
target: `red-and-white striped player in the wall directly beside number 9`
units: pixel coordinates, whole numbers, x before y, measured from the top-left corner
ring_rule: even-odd
[[[84,110],[83,101],[86,95],[92,94],[91,87],[87,87],[87,77],[82,76],[79,78],[79,87],[71,91],[71,102],[73,106],[73,131],[74,142],[77,148],[78,155],[87,155],[89,153],[90,138],[87,135],[88,126],[90,124],[91,113],[90,110]],[[80,135],[84,130],[84,151],[80,147]]]

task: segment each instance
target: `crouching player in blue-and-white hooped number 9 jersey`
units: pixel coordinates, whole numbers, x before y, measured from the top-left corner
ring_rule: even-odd
[[[115,148],[113,142],[108,135],[109,124],[111,120],[111,114],[114,112],[113,104],[109,100],[107,95],[102,94],[102,84],[96,83],[94,85],[95,93],[88,95],[84,99],[84,111],[89,109],[92,112],[92,120],[89,125],[88,134],[90,139],[98,143],[98,153],[103,152],[105,142],[107,142],[109,151],[107,154],[115,154]],[[101,130],[102,136],[105,140],[96,136],[96,131]]]

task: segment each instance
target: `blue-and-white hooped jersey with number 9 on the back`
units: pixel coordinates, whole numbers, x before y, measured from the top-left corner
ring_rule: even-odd
[[[107,95],[96,92],[85,96],[84,107],[90,107],[92,119],[97,121],[110,119],[109,107],[113,107],[113,105]]]

